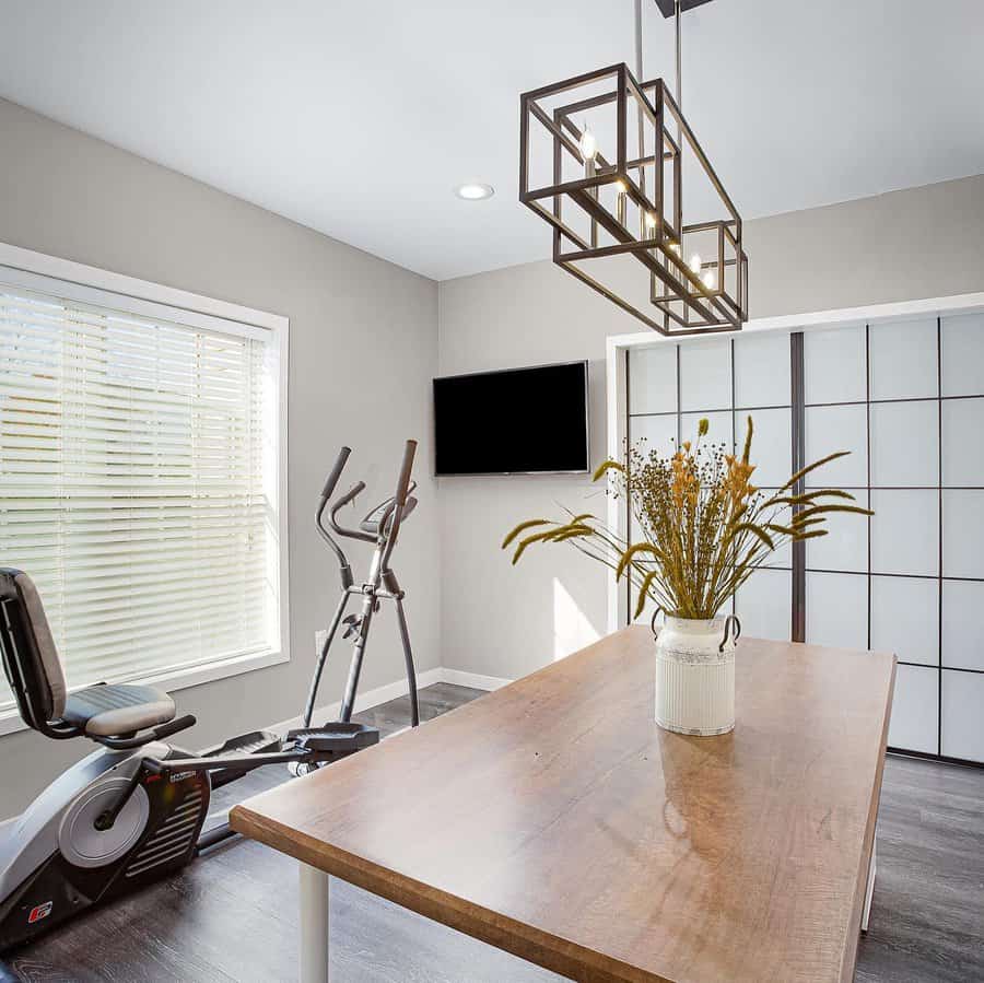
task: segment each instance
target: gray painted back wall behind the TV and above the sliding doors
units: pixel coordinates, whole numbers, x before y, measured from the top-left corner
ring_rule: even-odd
[[[746,234],[752,317],[982,291],[984,176],[759,219]],[[591,360],[600,460],[605,339],[644,327],[550,262],[445,281],[438,296],[442,374]],[[513,569],[499,549],[507,529],[555,515],[558,501],[604,514],[589,481],[440,484],[444,666],[522,676],[606,631],[607,569],[562,547]]]

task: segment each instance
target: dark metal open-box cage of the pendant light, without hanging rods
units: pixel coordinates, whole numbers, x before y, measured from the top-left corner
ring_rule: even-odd
[[[578,89],[608,83],[600,94],[573,98],[552,110],[549,100],[575,93]],[[587,162],[581,151],[582,130],[574,121],[577,114],[614,104],[616,154],[609,161],[597,154],[594,174],[563,180],[564,155],[578,165]],[[639,119],[639,150],[629,156],[630,113]],[[552,184],[531,188],[530,126],[539,125],[551,139]],[[676,136],[671,132],[676,129]],[[646,140],[646,133],[649,139]],[[645,152],[645,145],[653,148]],[[520,96],[519,200],[553,226],[553,261],[573,273],[593,290],[618,304],[661,335],[704,335],[740,330],[748,320],[748,257],[742,246],[741,217],[728,197],[706,154],[683,118],[663,79],[640,84],[624,63],[609,66],[526,92]],[[659,149],[658,155],[656,148]],[[686,224],[682,214],[682,155],[689,153],[700,165],[716,192],[723,218],[711,222]],[[669,165],[671,196],[667,196],[664,167]],[[647,175],[646,168],[652,168]],[[646,180],[652,176],[652,182]],[[625,222],[624,209],[613,213],[598,189],[621,182],[628,199],[639,214],[648,217],[637,231]],[[583,210],[590,220],[588,238],[565,221],[564,203]],[[598,230],[614,242],[598,244]],[[701,272],[713,270],[715,284],[708,286],[686,260],[689,237],[708,234],[716,242],[715,257],[702,262]],[[573,248],[572,248],[573,246]],[[631,255],[645,269],[649,280],[651,307],[641,308],[621,296],[610,284],[582,269],[578,264],[619,255]],[[728,289],[730,273],[734,286]]]

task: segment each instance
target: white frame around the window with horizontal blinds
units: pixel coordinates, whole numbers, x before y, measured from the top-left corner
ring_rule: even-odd
[[[277,489],[277,549],[278,549],[278,595],[279,595],[279,625],[277,637],[279,645],[273,651],[260,654],[241,655],[232,658],[216,659],[203,666],[192,666],[188,669],[164,671],[137,680],[147,686],[155,686],[160,689],[173,692],[187,687],[199,686],[203,682],[213,682],[218,679],[227,679],[231,676],[239,676],[243,672],[251,672],[255,669],[265,669],[290,662],[290,583],[289,583],[289,554],[288,554],[288,353],[290,320],[279,314],[269,314],[265,311],[256,311],[239,304],[231,304],[227,301],[216,301],[212,297],[177,290],[173,286],[164,286],[160,283],[151,283],[147,280],[138,280],[134,277],[126,277],[121,273],[113,273],[98,267],[47,256],[44,253],[35,253],[32,249],[23,249],[0,243],[0,269],[12,271],[19,276],[23,285],[28,285],[32,278],[48,277],[56,280],[68,281],[77,288],[93,291],[109,291],[128,299],[128,309],[140,313],[141,303],[153,304],[153,311],[148,313],[153,316],[169,316],[179,324],[191,327],[215,328],[215,318],[230,321],[229,332],[249,335],[249,329],[261,332],[263,339],[270,339],[276,350],[278,360],[278,373],[274,379],[277,391],[272,400],[277,419],[273,432],[277,434],[277,454],[274,456],[276,475],[273,488]],[[2,279],[2,278],[0,278]],[[37,281],[35,289],[45,290],[45,285]],[[97,303],[104,303],[105,297],[97,297]],[[162,307],[169,308],[162,311]],[[244,330],[245,329],[245,330]],[[25,730],[27,725],[21,719],[16,707],[0,713],[0,736],[12,734],[16,730]]]

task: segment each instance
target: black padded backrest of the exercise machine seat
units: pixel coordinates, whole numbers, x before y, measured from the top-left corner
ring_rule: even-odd
[[[0,656],[24,723],[44,730],[65,712],[65,672],[34,582],[0,567]]]

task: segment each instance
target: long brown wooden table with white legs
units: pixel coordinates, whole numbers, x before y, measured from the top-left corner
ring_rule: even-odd
[[[894,662],[742,639],[734,734],[683,737],[630,628],[232,826],[303,862],[305,983],[328,875],[576,981],[851,980]]]

